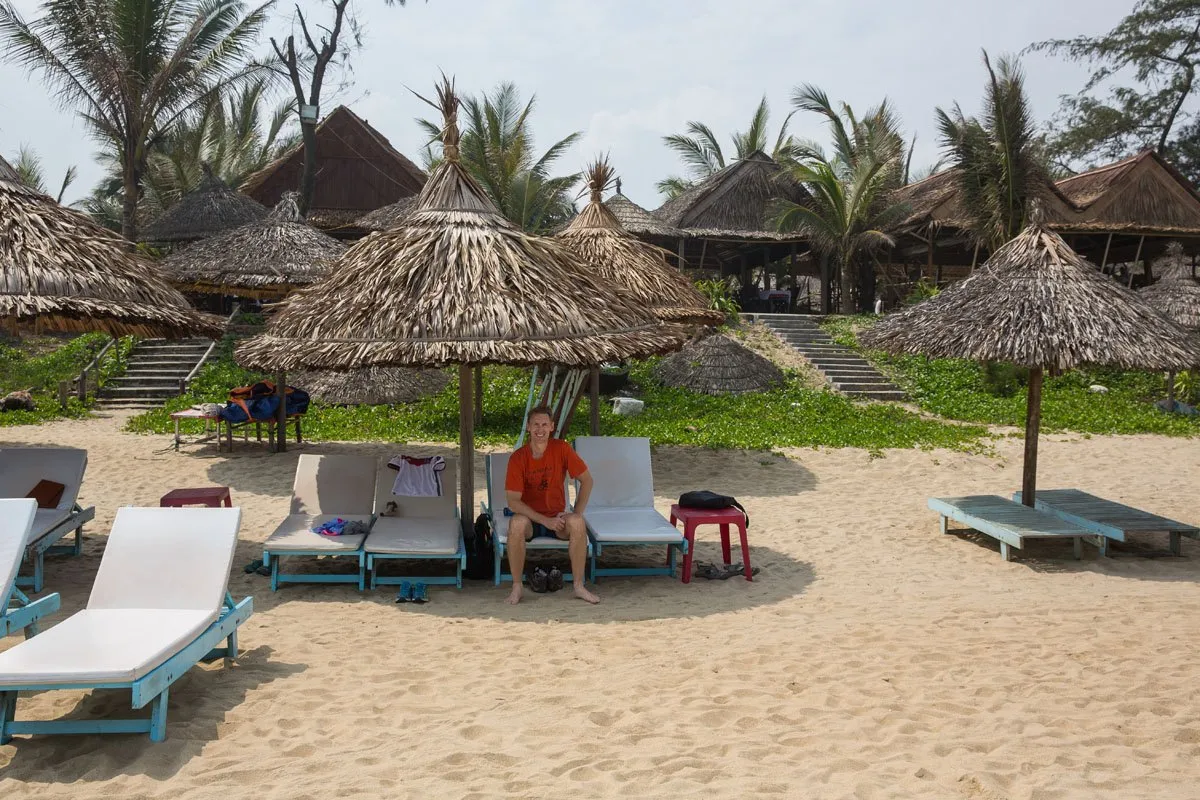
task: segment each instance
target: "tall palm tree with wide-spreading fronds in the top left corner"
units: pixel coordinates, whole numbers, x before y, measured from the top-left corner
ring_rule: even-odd
[[[241,0],[44,0],[26,23],[0,0],[8,56],[41,72],[121,167],[121,233],[137,236],[150,151],[212,92],[262,78],[248,62],[266,4]]]

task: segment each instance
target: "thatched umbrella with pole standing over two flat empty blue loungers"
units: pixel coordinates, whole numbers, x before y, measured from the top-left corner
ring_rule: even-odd
[[[1182,329],[1040,223],[966,279],[887,317],[862,342],[892,353],[1028,367],[1021,482],[1028,506],[1036,492],[1043,369],[1170,369],[1195,361]]]

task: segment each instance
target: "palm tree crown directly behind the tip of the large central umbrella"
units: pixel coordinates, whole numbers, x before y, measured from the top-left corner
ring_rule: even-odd
[[[522,104],[511,83],[482,97],[464,96],[458,151],[500,213],[529,233],[545,233],[575,215],[571,188],[578,173],[553,176],[551,168],[582,134],[571,133],[535,157],[529,125],[535,101],[534,96]],[[440,142],[442,126],[424,119],[416,122],[430,136],[422,158],[426,169],[432,169],[439,161],[432,145]]]

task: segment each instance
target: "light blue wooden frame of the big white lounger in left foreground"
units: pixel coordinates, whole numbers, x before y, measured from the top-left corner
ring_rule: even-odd
[[[238,656],[238,627],[254,612],[254,599],[246,597],[235,603],[226,593],[221,615],[188,644],[172,655],[151,672],[133,681],[82,682],[82,684],[28,684],[0,688],[0,745],[12,741],[18,734],[100,734],[100,733],[148,733],[150,741],[167,738],[167,698],[170,685],[182,678],[188,669],[204,661],[224,658],[226,666]],[[217,646],[221,642],[224,646]],[[52,690],[127,688],[132,708],[150,705],[150,716],[126,720],[17,720],[17,693]]]

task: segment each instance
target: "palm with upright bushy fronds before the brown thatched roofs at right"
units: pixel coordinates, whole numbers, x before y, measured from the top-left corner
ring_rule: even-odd
[[[1030,217],[1030,201],[1052,191],[1046,161],[1037,144],[1025,77],[1015,59],[1002,56],[988,70],[982,118],[937,109],[947,161],[958,168],[962,209],[971,234],[989,252],[1014,239]]]

